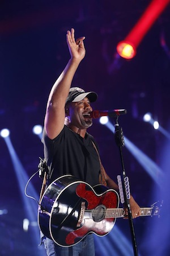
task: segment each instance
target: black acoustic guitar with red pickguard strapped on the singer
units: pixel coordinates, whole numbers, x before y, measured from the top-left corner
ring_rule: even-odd
[[[90,184],[64,175],[54,180],[40,200],[38,224],[42,233],[60,246],[73,246],[87,234],[105,236],[111,232],[116,218],[123,218],[118,208],[119,196],[114,189]],[[141,216],[159,215],[154,205],[141,208]]]

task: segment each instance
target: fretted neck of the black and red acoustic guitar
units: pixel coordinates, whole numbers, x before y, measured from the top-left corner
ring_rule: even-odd
[[[152,216],[152,215],[158,215],[159,214],[159,210],[158,209],[154,209],[153,212],[152,207],[150,208],[141,208],[141,216]],[[123,218],[125,215],[125,210],[122,208],[111,208],[111,209],[107,209],[106,214],[105,214],[105,218]]]

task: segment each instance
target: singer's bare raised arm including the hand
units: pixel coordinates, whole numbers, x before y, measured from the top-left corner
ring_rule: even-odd
[[[70,60],[65,69],[54,83],[46,106],[44,127],[50,139],[54,139],[61,132],[65,121],[65,102],[69,94],[71,82],[80,62],[85,56],[84,36],[75,40],[74,28],[67,31],[67,45],[70,51]]]

